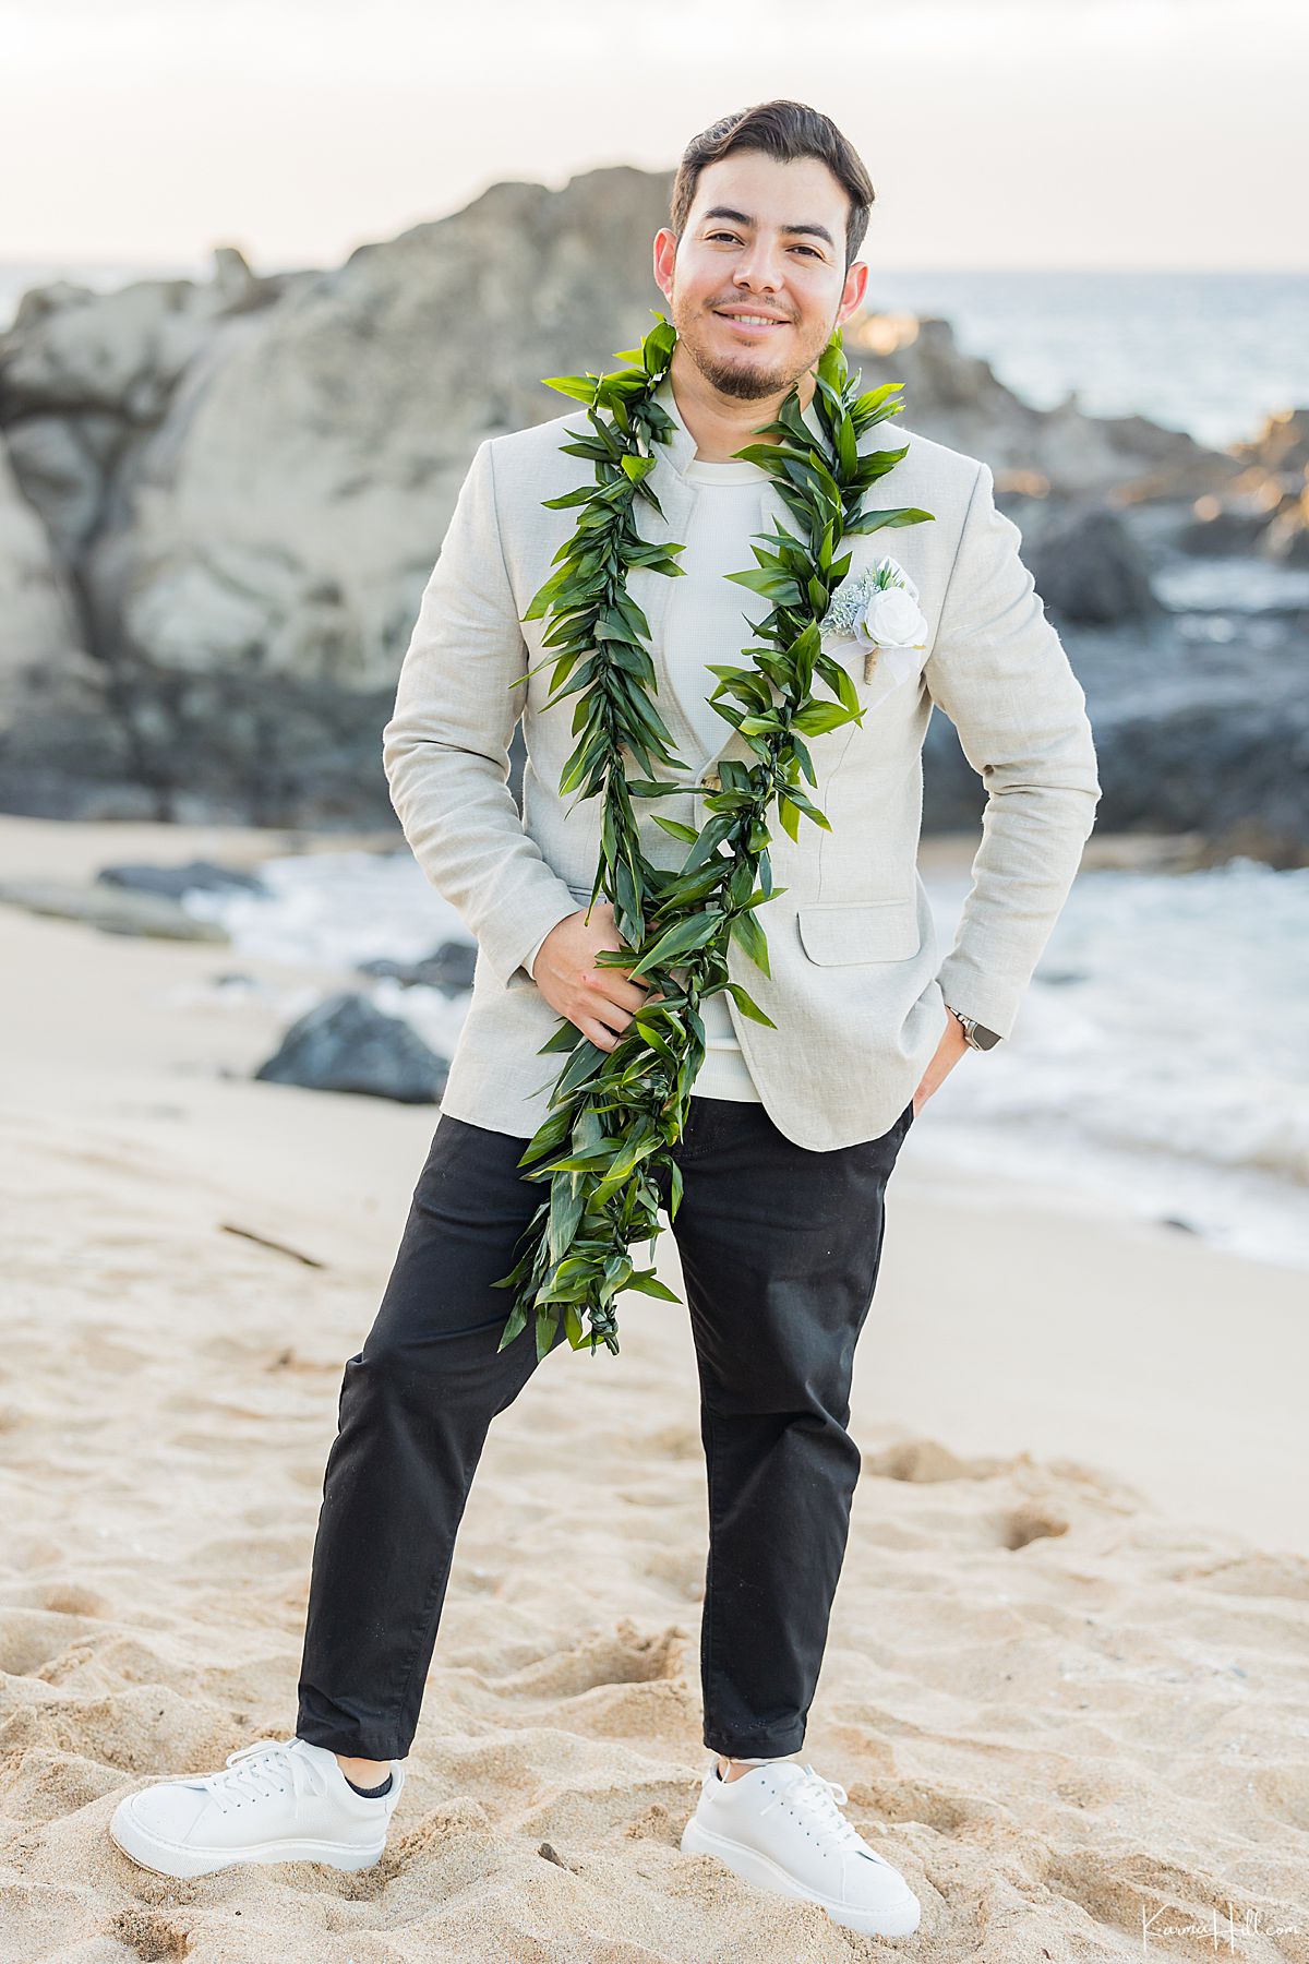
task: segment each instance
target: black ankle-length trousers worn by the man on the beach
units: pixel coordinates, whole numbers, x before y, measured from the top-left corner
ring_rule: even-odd
[[[705,1744],[720,1754],[805,1740],[860,1475],[854,1345],[911,1123],[913,1104],[883,1137],[814,1153],[761,1104],[693,1096],[673,1149],[708,1469]],[[377,1320],[345,1363],[298,1683],[296,1734],[314,1746],[402,1760],[414,1738],[487,1430],[536,1369],[532,1318],[497,1351],[512,1290],[491,1286],[546,1194],[516,1165],[524,1147],[442,1114]],[[624,1367],[569,1353],[573,1369],[597,1363]]]

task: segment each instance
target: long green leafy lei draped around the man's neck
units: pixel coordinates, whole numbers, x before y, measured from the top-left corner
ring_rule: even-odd
[[[901,383],[858,395],[842,350],[840,328],[816,365],[814,405],[822,440],[801,414],[793,387],[775,422],[754,434],[773,442],[734,452],[773,479],[795,530],[758,532],[752,544],[758,566],[728,579],[773,603],[756,628],[758,646],[748,668],[716,666],[708,701],[748,742],[758,762],[722,758],[720,790],[705,797],[708,817],[691,825],[654,813],[654,823],[687,846],[679,868],[652,866],[642,852],[636,799],[681,797],[685,782],[655,778],[655,766],[687,770],[673,752],[654,697],[657,680],[650,656],[650,623],[626,589],[632,566],[677,575],[683,568],[673,542],[640,536],[638,501],[659,501],[648,483],[654,444],[665,444],[675,424],[655,389],[669,371],[677,330],[657,314],[640,348],[618,354],[630,363],[610,375],[551,375],[548,389],[587,405],[589,430],[569,430],[561,450],[595,465],[595,485],[544,499],[551,511],[577,509],[577,528],[555,552],[557,570],[534,595],[522,621],[550,617],[544,646],[555,650],[550,701],[575,695],[577,746],[559,778],[559,795],[601,797],[601,856],[591,905],[604,896],[626,943],[601,951],[597,966],[624,968],[650,984],[650,996],[602,1051],[567,1017],[538,1055],[567,1051],[550,1100],[550,1114],[528,1141],[518,1165],[524,1178],[550,1180],[524,1229],[524,1251],[495,1288],[514,1288],[514,1306],[498,1349],[536,1318],[538,1359],[551,1347],[559,1324],[573,1349],[599,1343],[618,1349],[614,1298],[638,1288],[667,1302],[679,1298],[654,1269],[636,1269],[630,1247],[654,1243],[659,1224],[659,1178],[669,1180],[669,1222],[681,1206],[681,1169],[671,1147],[681,1139],[691,1086],[705,1061],[705,1023],[699,1006],[730,990],[742,1015],[767,1029],[777,1025],[752,1002],[740,982],[728,980],[728,943],[771,974],[767,941],[758,909],[775,888],[769,870],[767,819],[799,837],[801,819],[830,831],[828,819],[801,788],[816,786],[807,736],[860,723],[850,674],[820,646],[820,623],[834,587],[850,570],[840,548],[860,532],[918,524],[932,513],[916,507],[869,511],[873,485],[907,454],[871,450],[860,456],[864,430],[901,414],[893,401]],[[548,662],[538,664],[546,668]],[[528,676],[536,670],[528,670]],[[510,687],[518,687],[520,676]],[[834,701],[811,695],[818,676]],[[728,701],[732,697],[734,701]],[[628,778],[624,750],[646,772]],[[683,980],[677,980],[681,976]],[[652,1000],[657,992],[659,1000]],[[542,1086],[544,1088],[544,1086]],[[544,1165],[534,1165],[544,1161]]]

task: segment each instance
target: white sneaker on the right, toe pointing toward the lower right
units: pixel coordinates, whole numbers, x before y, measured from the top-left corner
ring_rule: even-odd
[[[761,1889],[799,1895],[865,1937],[911,1937],[922,1909],[897,1868],[840,1809],[850,1795],[812,1766],[777,1760],[736,1779],[705,1773],[683,1854],[714,1854]]]

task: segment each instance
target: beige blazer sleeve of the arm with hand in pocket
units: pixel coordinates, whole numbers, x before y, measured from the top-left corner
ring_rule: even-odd
[[[956,941],[936,980],[999,1037],[1050,939],[1101,797],[1085,691],[1046,619],[1022,534],[977,465],[924,680],[987,803]]]

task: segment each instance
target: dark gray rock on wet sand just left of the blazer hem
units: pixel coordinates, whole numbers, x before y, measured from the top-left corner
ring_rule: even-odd
[[[396,1015],[341,990],[298,1017],[255,1078],[316,1092],[440,1104],[449,1064]]]

